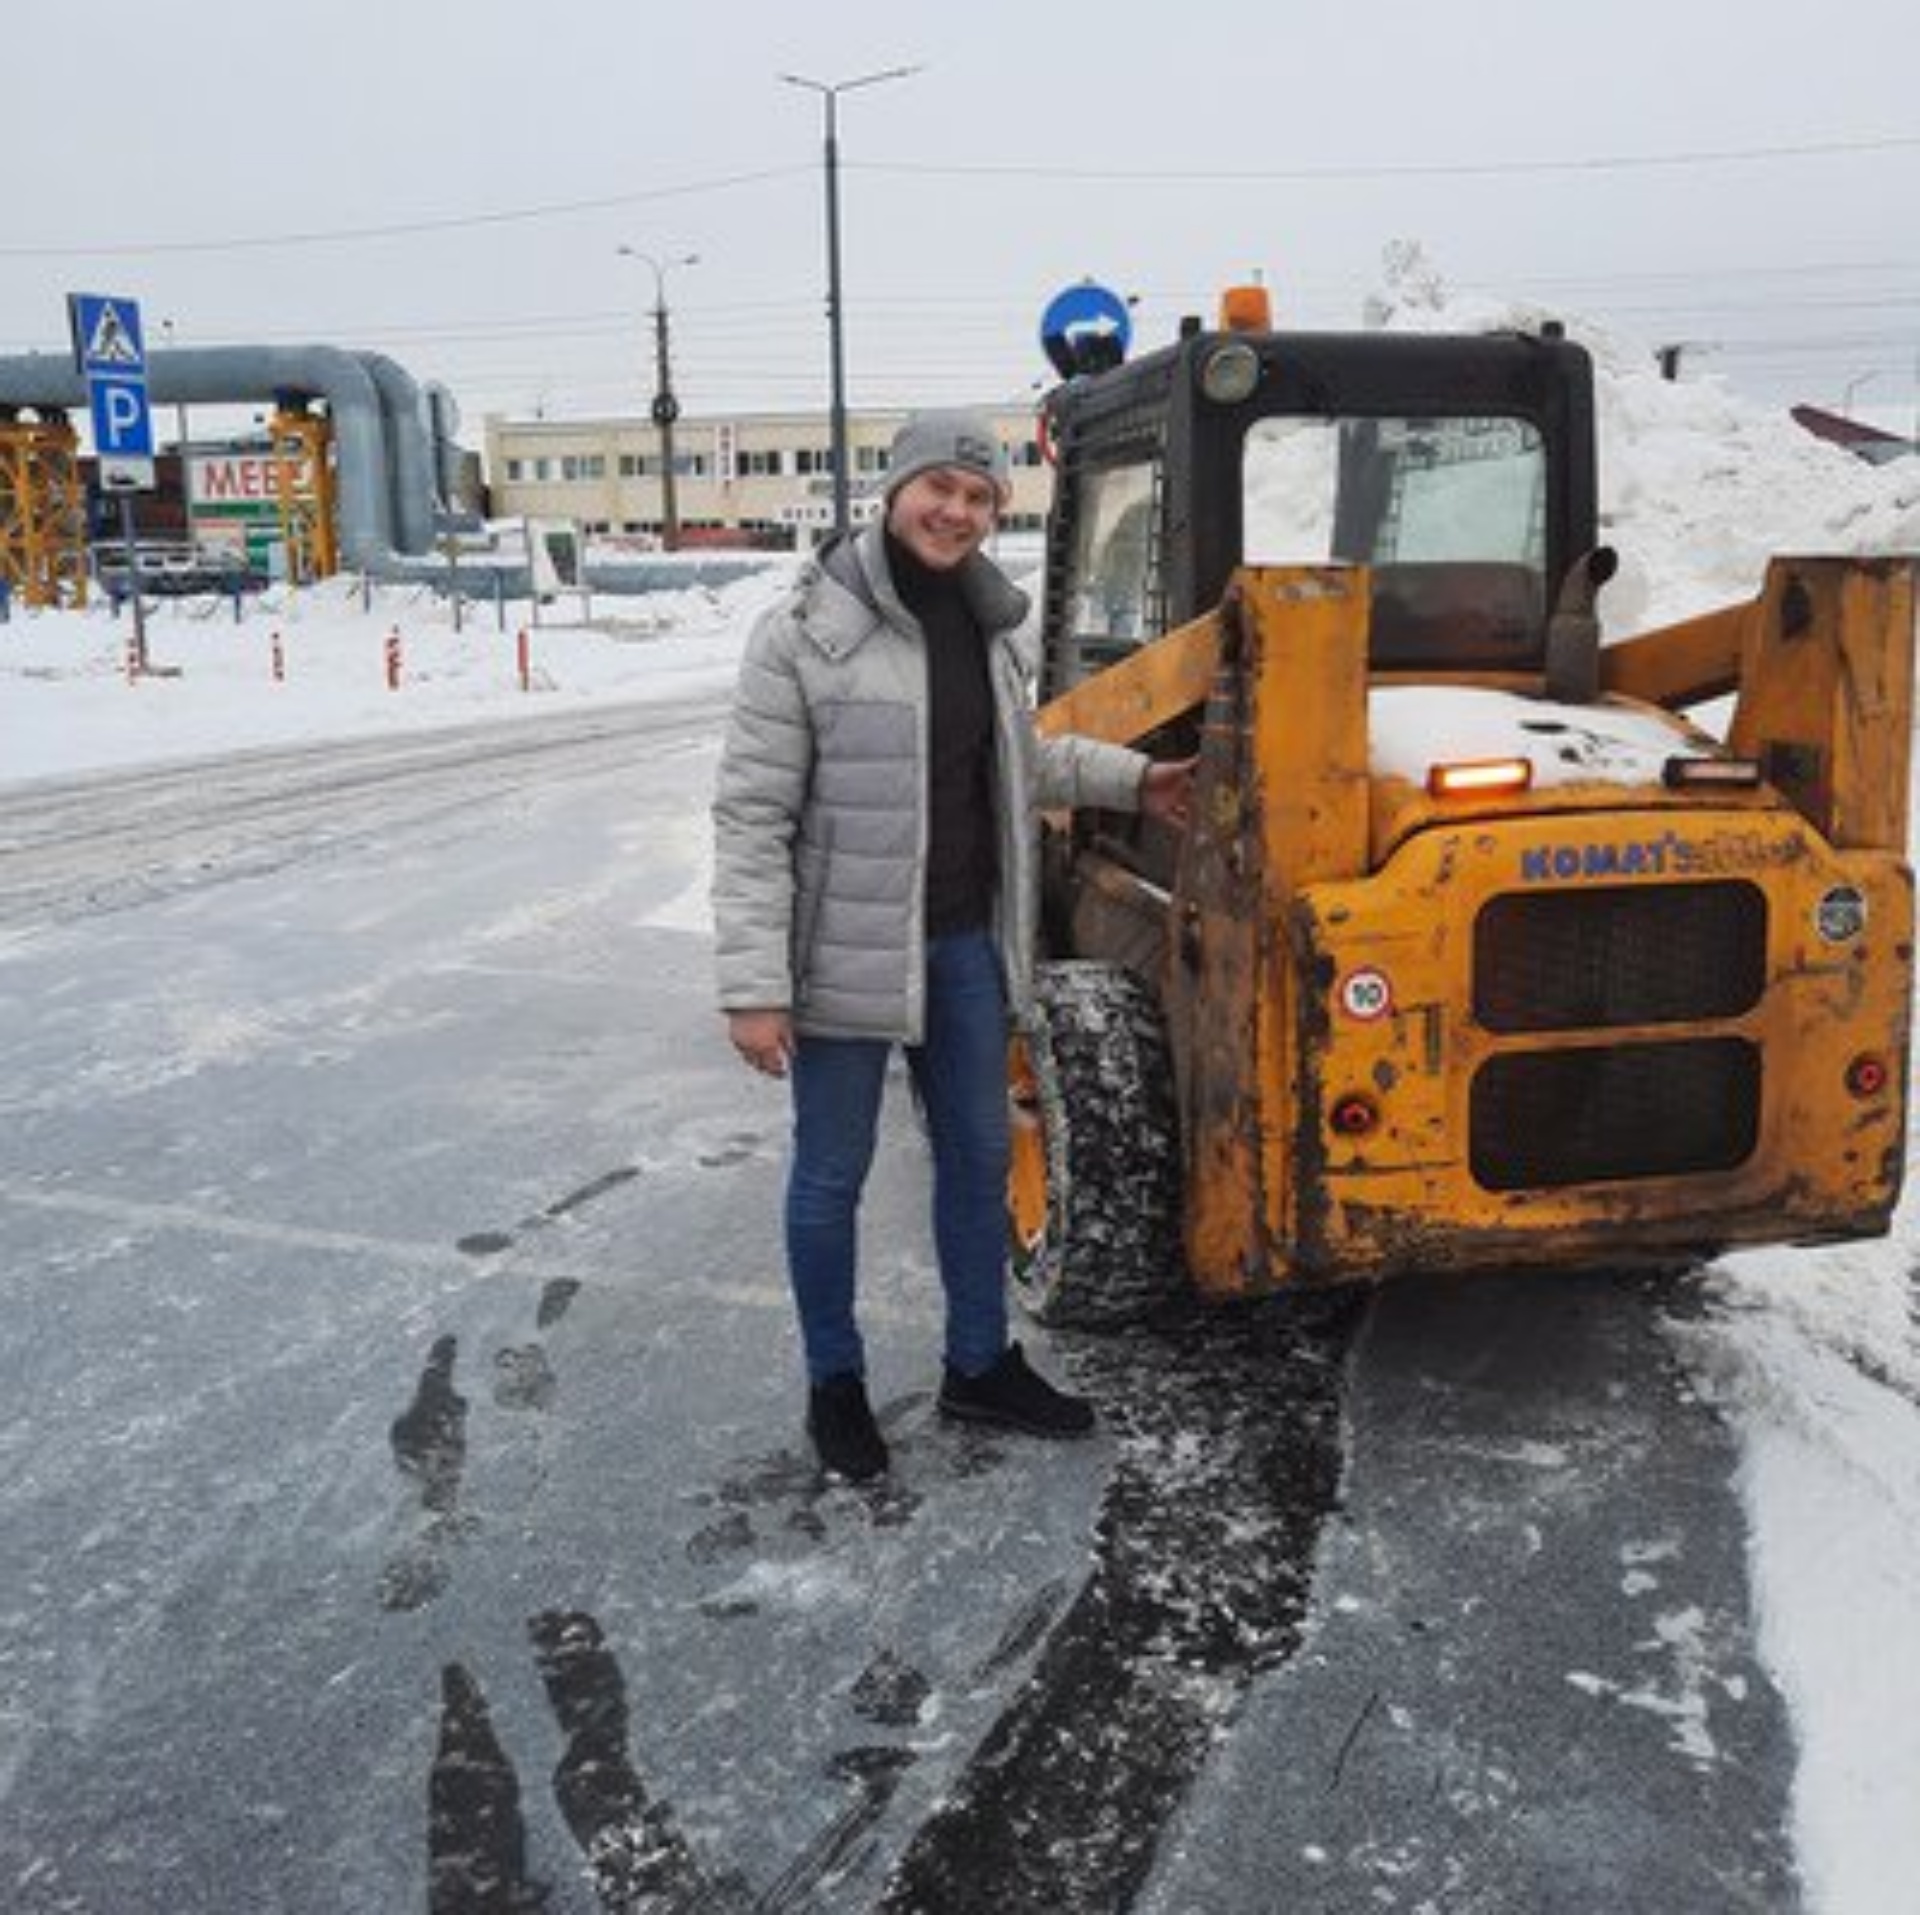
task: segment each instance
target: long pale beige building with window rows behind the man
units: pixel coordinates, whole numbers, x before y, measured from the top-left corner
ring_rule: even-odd
[[[1052,471],[1031,407],[983,407],[1006,446],[1014,501],[1002,524],[1037,532]],[[854,519],[879,499],[887,448],[906,413],[849,413]],[[806,544],[833,522],[833,453],[826,413],[728,413],[674,424],[682,540]],[[570,519],[589,534],[659,534],[660,432],[647,419],[486,421],[486,473],[495,519]]]

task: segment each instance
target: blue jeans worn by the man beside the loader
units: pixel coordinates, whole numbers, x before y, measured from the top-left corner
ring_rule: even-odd
[[[864,1375],[854,1321],[860,1191],[874,1162],[893,1045],[801,1037],[793,1058],[787,1272],[806,1375]],[[987,932],[927,943],[925,1041],[906,1047],[933,1145],[933,1247],[947,1362],[966,1375],[1006,1350],[1006,987]]]

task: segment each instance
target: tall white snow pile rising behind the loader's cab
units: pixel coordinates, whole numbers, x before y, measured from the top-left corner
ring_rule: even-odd
[[[1578,313],[1450,294],[1417,246],[1394,248],[1367,307],[1398,332],[1538,332],[1559,321],[1594,359],[1601,536],[1620,570],[1611,636],[1751,597],[1768,557],[1920,551],[1920,457],[1872,467],[1715,376],[1667,380],[1644,340]]]

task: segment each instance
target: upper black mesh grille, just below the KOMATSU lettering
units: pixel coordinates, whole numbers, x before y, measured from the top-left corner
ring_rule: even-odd
[[[1738,1018],[1766,987],[1766,893],[1743,882],[1503,893],[1473,928],[1488,1031]]]

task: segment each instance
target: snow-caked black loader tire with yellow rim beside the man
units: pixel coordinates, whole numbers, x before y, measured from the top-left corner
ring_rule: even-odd
[[[1114,1327],[1183,1287],[1173,1068],[1154,993],[1117,964],[1043,964],[1014,1045],[1014,1295]]]

